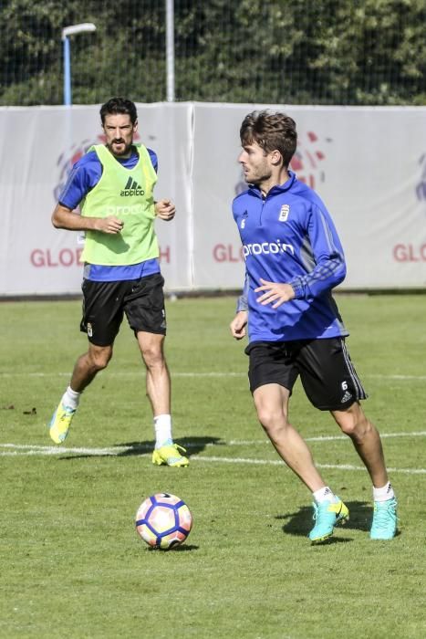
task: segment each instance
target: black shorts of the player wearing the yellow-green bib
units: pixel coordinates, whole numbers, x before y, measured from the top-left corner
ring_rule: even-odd
[[[166,334],[164,279],[160,273],[122,282],[83,280],[83,318],[80,330],[97,346],[114,343],[123,315],[134,333]]]

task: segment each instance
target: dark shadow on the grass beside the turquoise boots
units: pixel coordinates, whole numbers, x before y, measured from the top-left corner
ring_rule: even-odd
[[[362,530],[364,532],[369,531],[372,518],[371,504],[367,501],[345,501],[345,504],[349,508],[349,520],[343,526],[338,526],[335,529],[334,537],[329,540],[329,543],[338,543],[349,540],[338,539],[339,529]],[[307,537],[309,530],[313,526],[312,513],[313,511],[311,507],[302,506],[296,512],[277,515],[275,519],[286,520],[286,523],[283,526],[283,532],[287,535]]]

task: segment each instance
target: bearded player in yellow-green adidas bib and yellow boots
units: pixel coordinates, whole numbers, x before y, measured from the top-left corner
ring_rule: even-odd
[[[156,217],[173,219],[175,206],[165,199],[154,202],[157,156],[133,142],[138,130],[134,103],[112,98],[101,107],[100,118],[106,144],[91,147],[76,162],[52,215],[56,228],[85,233],[80,330],[88,335],[88,351],[75,363],[50,421],[50,436],[56,444],[66,439],[81,393],[108,366],[125,314],[146,366],[156,440],[152,463],[188,466],[186,451],[171,436],[164,279],[154,229]]]

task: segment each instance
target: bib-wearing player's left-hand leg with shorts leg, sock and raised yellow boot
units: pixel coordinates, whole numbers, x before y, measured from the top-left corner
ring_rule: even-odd
[[[74,365],[68,388],[62,395],[49,423],[49,434],[56,444],[65,441],[78,408],[80,395],[96,374],[108,366],[112,345],[122,320],[121,282],[83,283],[83,317],[80,330],[88,335],[88,351]]]

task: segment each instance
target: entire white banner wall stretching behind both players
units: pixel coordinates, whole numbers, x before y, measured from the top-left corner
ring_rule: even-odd
[[[246,113],[265,105],[139,104],[157,152],[157,222],[168,290],[234,289],[244,278],[231,214]],[[324,200],[345,248],[344,288],[426,286],[426,108],[283,107],[299,136],[292,168]],[[0,296],[78,293],[78,234],[50,216],[71,164],[102,141],[99,106],[0,109]]]

